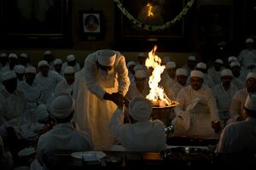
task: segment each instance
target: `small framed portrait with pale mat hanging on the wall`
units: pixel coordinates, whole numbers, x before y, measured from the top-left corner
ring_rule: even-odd
[[[81,40],[103,39],[102,11],[79,11]]]

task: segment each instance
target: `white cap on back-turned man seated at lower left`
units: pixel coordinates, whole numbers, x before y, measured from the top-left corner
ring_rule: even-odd
[[[74,100],[69,94],[58,96],[51,104],[53,116],[56,118],[66,118],[73,112],[74,107]]]

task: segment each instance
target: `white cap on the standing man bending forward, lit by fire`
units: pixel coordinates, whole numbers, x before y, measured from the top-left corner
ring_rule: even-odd
[[[116,54],[113,50],[102,49],[100,54],[98,54],[98,62],[103,66],[112,66],[115,61]]]

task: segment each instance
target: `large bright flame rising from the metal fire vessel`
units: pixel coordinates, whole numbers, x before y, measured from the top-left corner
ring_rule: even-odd
[[[148,53],[148,58],[146,59],[145,65],[147,67],[152,67],[152,75],[149,77],[149,88],[150,92],[146,96],[147,99],[151,101],[160,101],[160,106],[171,105],[171,99],[168,99],[167,95],[164,92],[164,88],[159,87],[159,82],[161,80],[161,74],[165,70],[166,66],[161,65],[161,59],[159,56],[154,54],[157,46],[154,46]]]

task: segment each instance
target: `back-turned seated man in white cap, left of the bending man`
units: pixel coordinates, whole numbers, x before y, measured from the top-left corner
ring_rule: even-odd
[[[38,139],[37,158],[44,167],[55,167],[54,150],[92,150],[88,133],[75,129],[71,123],[74,113],[74,100],[70,95],[58,96],[52,103],[56,125]],[[51,164],[53,163],[53,164]],[[60,163],[60,162],[59,162]]]

